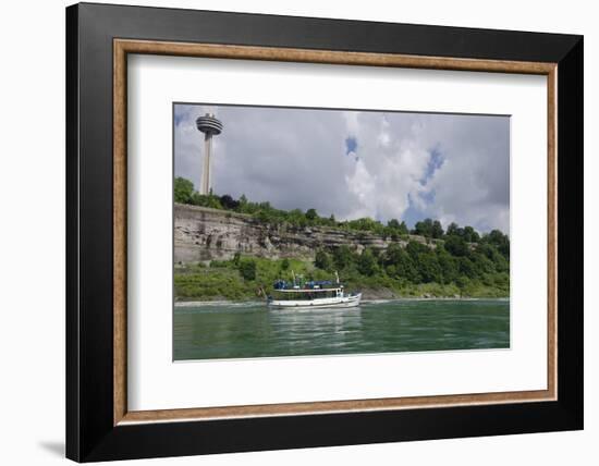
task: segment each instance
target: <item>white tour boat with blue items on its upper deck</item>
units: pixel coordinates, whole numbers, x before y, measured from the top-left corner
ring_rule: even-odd
[[[273,296],[267,297],[268,307],[271,309],[332,309],[359,306],[362,293],[346,293],[339,282],[314,281],[293,283],[278,280],[273,285]]]

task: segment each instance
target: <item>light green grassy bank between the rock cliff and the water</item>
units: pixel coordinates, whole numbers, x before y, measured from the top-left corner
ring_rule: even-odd
[[[258,299],[258,290],[267,292],[277,279],[291,280],[291,270],[296,274],[314,280],[331,280],[332,273],[315,269],[309,261],[290,259],[290,267],[283,270],[282,260],[254,258],[257,265],[256,280],[246,281],[232,261],[213,261],[210,267],[203,265],[178,266],[174,271],[175,296],[179,301],[250,301]],[[346,271],[341,277],[350,291],[359,290],[366,299],[389,297],[453,297],[460,295],[454,284],[421,283],[413,284],[387,275],[364,277],[355,271]],[[492,277],[473,281],[463,291],[468,297],[506,297],[509,285],[497,285]]]

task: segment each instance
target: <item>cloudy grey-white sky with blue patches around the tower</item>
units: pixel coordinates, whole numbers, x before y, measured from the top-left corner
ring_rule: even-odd
[[[212,192],[338,220],[425,218],[510,231],[510,118],[216,105],[174,106],[174,172],[199,188],[204,135]]]

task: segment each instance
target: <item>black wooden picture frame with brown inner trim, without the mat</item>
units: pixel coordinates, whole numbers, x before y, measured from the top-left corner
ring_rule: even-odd
[[[547,390],[129,410],[127,53],[546,75]],[[68,457],[87,462],[583,427],[582,37],[77,4],[66,10],[66,57]]]

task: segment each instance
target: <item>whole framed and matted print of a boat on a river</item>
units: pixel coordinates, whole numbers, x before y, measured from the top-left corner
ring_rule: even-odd
[[[66,57],[68,457],[583,428],[580,36],[84,3]]]

